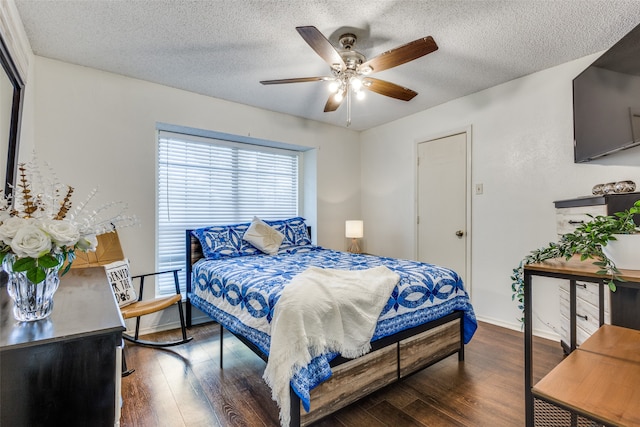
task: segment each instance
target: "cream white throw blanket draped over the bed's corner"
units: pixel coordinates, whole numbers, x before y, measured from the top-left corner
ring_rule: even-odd
[[[387,267],[336,270],[310,267],[284,288],[271,322],[271,348],[263,378],[289,425],[289,383],[312,358],[367,353],[378,317],[400,276]]]

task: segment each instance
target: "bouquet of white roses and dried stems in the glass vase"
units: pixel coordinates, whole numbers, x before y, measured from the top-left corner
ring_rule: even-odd
[[[0,262],[12,257],[12,270],[25,272],[34,284],[45,279],[47,269],[65,262],[66,273],[75,251],[95,251],[97,235],[137,223],[124,214],[122,203],[91,209],[96,190],[72,209],[73,187],[60,184],[53,174],[44,179],[35,158],[18,170],[13,200],[0,200]]]

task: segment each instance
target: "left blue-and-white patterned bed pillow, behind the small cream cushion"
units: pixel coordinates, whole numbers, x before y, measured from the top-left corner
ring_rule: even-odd
[[[256,255],[260,251],[251,243],[242,240],[249,226],[248,222],[233,225],[212,225],[193,230],[192,234],[200,241],[202,253],[207,259]]]

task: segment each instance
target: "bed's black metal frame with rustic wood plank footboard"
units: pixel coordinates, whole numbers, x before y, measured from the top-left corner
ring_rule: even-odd
[[[192,324],[191,266],[203,258],[197,238],[186,234],[187,252],[187,325]],[[399,381],[453,354],[464,360],[464,313],[456,311],[443,318],[416,326],[372,343],[369,353],[356,359],[336,358],[331,362],[333,375],[311,391],[311,407],[306,412],[300,398],[291,394],[291,427],[306,426],[339,409]],[[222,338],[222,325],[220,328]],[[235,335],[235,334],[234,334]],[[267,360],[255,345],[235,335],[263,360]],[[220,340],[222,352],[222,339]],[[222,365],[222,357],[220,359]]]

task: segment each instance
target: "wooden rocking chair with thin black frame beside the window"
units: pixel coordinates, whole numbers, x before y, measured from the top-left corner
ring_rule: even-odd
[[[122,246],[120,245],[120,239],[118,237],[118,233],[116,231],[101,234],[97,237],[98,237],[98,247],[96,248],[96,251],[77,253],[76,259],[71,265],[71,268],[107,266],[117,261],[126,260],[124,253],[122,252]],[[136,318],[136,328],[135,328],[134,335],[131,336],[128,334],[122,334],[122,337],[125,340],[139,344],[139,345],[149,346],[149,347],[171,347],[175,345],[188,343],[193,339],[193,337],[187,337],[187,329],[186,329],[184,313],[182,309],[182,295],[180,294],[180,282],[178,280],[179,271],[180,269],[175,269],[175,270],[166,270],[166,271],[159,271],[155,273],[147,273],[147,274],[139,274],[136,276],[130,276],[130,281],[136,281],[136,279],[140,279],[140,280],[139,280],[138,289],[135,290],[135,295],[137,295],[135,302],[120,307],[120,313],[122,314],[123,319],[126,320],[134,317]],[[126,273],[128,274],[128,262],[127,262]],[[175,294],[143,300],[144,279],[146,277],[157,276],[157,275],[168,274],[168,273],[173,273],[173,280],[175,283]],[[115,290],[114,290],[114,293],[115,293]],[[120,301],[120,296],[117,293],[116,293],[116,299]],[[139,338],[140,317],[147,314],[162,311],[173,305],[177,305],[178,307],[178,315],[180,317],[180,329],[182,332],[182,339],[178,339],[175,341],[164,341],[164,342],[141,340]],[[133,370],[127,369],[127,364],[123,354],[122,375],[127,376],[132,372]]]

